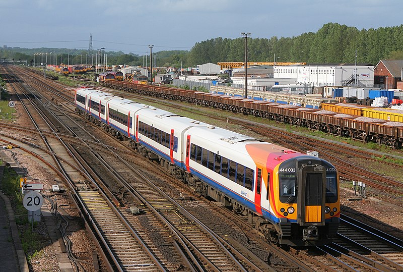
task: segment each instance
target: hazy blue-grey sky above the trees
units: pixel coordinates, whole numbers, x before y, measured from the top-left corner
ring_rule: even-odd
[[[0,0],[0,46],[145,55],[190,50],[223,37],[292,37],[332,22],[358,29],[401,25],[401,0]]]

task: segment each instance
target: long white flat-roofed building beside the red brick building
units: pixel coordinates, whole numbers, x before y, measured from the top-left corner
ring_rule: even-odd
[[[357,69],[357,72],[355,73]],[[290,65],[275,66],[274,78],[293,78],[305,86],[374,86],[374,66]]]

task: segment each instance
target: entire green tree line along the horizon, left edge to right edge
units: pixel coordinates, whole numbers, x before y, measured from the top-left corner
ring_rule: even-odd
[[[30,63],[33,62],[34,52],[38,50],[52,51],[50,48],[3,48],[0,49],[0,58],[24,59]],[[356,27],[338,23],[327,23],[317,32],[307,32],[294,37],[248,38],[248,60],[251,62],[354,63],[355,50],[357,50],[358,63],[376,65],[383,59],[403,59],[403,25],[359,30]],[[67,63],[66,60],[70,56],[71,64],[76,64],[77,61],[81,63],[80,57],[88,55],[88,50],[56,48],[56,51],[63,53],[63,63]],[[146,62],[148,66],[150,65],[150,56],[146,61],[145,57],[133,53],[125,54],[119,51],[107,52],[107,54],[108,65],[142,66],[146,65]],[[90,60],[88,56],[86,57]],[[91,63],[96,63],[95,58],[91,58]],[[190,51],[157,52],[159,67],[194,67],[205,63],[244,60],[245,39],[242,37],[236,39],[218,37],[197,42]]]

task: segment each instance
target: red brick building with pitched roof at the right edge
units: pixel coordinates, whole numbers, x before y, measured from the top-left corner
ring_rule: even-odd
[[[400,89],[403,60],[381,60],[374,68],[374,87]]]

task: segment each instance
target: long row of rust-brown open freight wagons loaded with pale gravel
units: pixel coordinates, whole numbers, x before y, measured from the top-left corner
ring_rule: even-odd
[[[330,111],[303,108],[289,104],[245,99],[237,96],[215,95],[194,90],[132,84],[121,81],[101,82],[109,88],[154,96],[161,99],[187,101],[198,105],[220,108],[221,110],[253,115],[276,122],[307,127],[342,137],[350,137],[363,142],[375,142],[392,148],[403,147],[403,126],[391,122],[379,122],[371,118],[353,115],[338,115]]]

